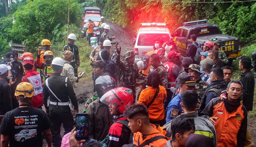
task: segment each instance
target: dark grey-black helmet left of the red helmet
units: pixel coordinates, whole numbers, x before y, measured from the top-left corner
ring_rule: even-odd
[[[109,75],[103,75],[95,80],[95,89],[99,98],[110,89],[116,88],[116,81]]]

